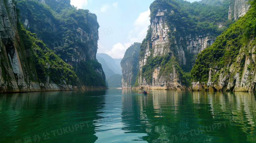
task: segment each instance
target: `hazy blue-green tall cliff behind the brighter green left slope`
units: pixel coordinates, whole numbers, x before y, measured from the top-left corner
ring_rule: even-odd
[[[76,67],[75,72],[80,74],[78,71],[83,68],[79,67],[80,62],[96,61],[99,28],[96,15],[84,9],[73,11],[72,14],[68,13],[66,8],[74,9],[70,5],[70,0],[39,0],[39,2],[41,3],[18,0],[20,21],[63,61]],[[56,13],[49,10],[49,7]],[[105,79],[101,67],[95,71]]]

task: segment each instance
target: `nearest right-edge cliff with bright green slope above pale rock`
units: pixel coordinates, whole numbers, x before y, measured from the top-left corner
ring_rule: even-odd
[[[256,1],[253,4],[245,16],[198,56],[191,71],[193,90],[255,91]],[[210,57],[214,54],[213,60]]]

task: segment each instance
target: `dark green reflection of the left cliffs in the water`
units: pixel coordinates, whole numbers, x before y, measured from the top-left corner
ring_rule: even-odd
[[[65,91],[2,94],[0,142],[24,141],[27,137],[34,142],[35,135],[39,135],[40,139],[37,137],[35,141],[94,143],[97,140],[94,120],[100,118],[97,111],[104,105],[105,93]]]

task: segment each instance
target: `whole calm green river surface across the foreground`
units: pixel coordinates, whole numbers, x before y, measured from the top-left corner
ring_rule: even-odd
[[[105,90],[0,94],[0,143],[251,143],[256,96]]]

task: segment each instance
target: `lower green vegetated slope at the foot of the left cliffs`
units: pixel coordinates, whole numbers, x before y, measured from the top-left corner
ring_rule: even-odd
[[[18,32],[20,34],[21,45],[24,49],[20,54],[24,54],[27,58],[32,56],[32,63],[35,65],[38,82],[49,81],[57,84],[70,84],[77,85],[77,82],[82,82],[87,86],[105,86],[102,77],[95,72],[101,69],[101,64],[94,61],[81,61],[75,63],[73,67],[79,71],[74,71],[74,68],[65,63],[52,50],[46,47],[42,40],[37,39],[34,33],[27,31],[23,26],[18,23]],[[77,68],[80,67],[80,68]],[[78,81],[78,78],[80,81]],[[66,83],[65,83],[66,82]]]

